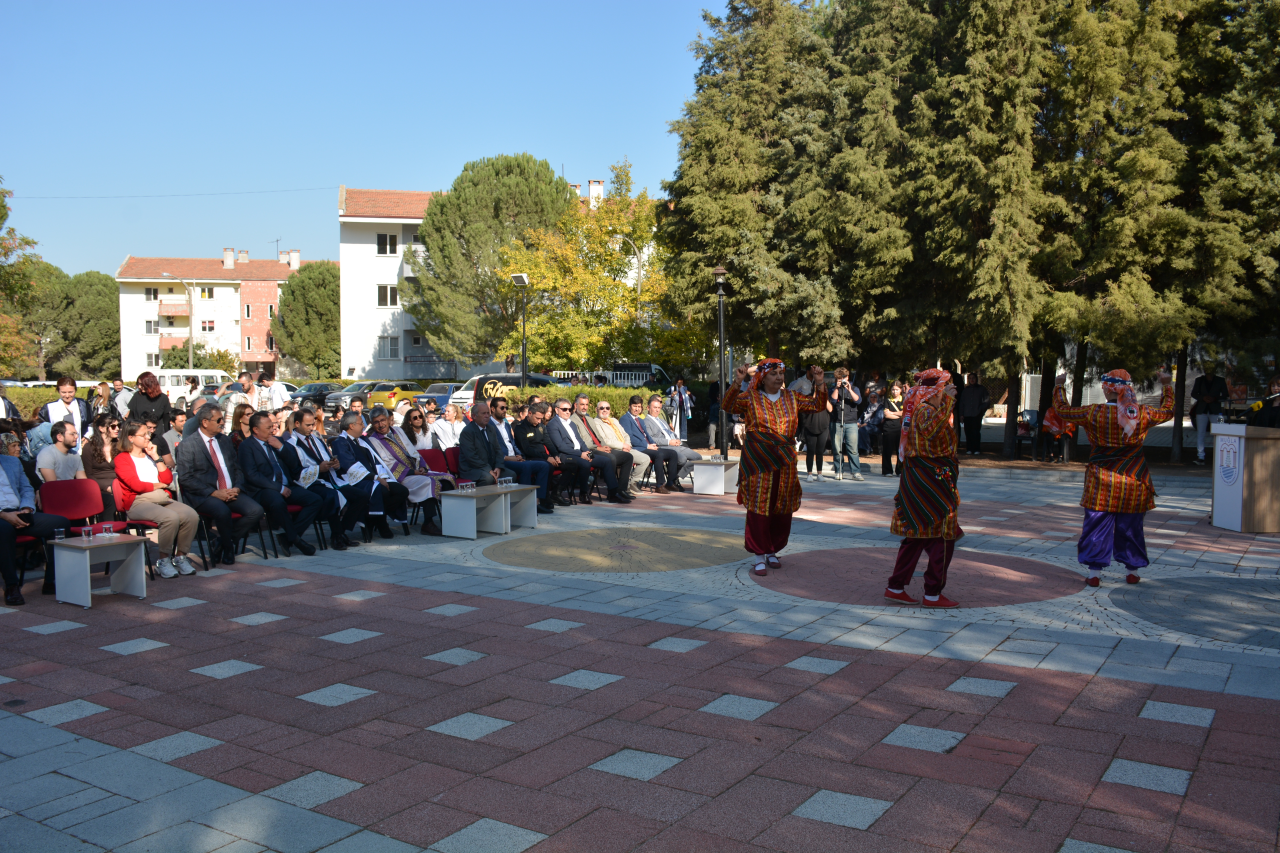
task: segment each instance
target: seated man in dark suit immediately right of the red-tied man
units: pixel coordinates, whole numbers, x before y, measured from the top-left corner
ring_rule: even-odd
[[[298,487],[297,478],[302,474],[298,452],[293,444],[285,444],[275,434],[269,412],[253,412],[248,419],[248,428],[252,437],[239,446],[244,491],[262,505],[271,525],[280,528],[284,556],[292,556],[292,547],[310,557],[316,548],[302,538],[302,533],[311,528],[323,510],[337,510],[338,497],[333,497],[333,507],[326,507],[323,497]],[[302,507],[297,519],[289,515],[291,503]]]

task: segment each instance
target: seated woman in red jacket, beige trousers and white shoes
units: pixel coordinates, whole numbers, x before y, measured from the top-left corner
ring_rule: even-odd
[[[156,571],[161,578],[196,574],[187,552],[196,537],[200,516],[165,489],[173,483],[173,473],[151,443],[147,425],[129,421],[124,433],[120,452],[115,455],[115,483],[111,487],[116,506],[129,520],[154,521],[160,526]]]

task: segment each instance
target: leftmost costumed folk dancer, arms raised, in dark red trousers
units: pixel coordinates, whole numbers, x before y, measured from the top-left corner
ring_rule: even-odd
[[[800,415],[827,410],[822,368],[809,369],[813,393],[808,397],[783,389],[783,374],[781,361],[765,359],[758,365],[750,387],[744,388],[748,369],[740,366],[722,403],[724,411],[741,415],[746,423],[737,502],[746,507],[746,549],[756,556],[751,571],[760,576],[769,574],[769,569],[782,567],[778,552],[787,547],[791,516],[800,508],[792,439]]]

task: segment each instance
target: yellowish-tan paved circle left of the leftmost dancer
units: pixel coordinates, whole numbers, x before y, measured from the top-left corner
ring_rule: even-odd
[[[494,562],[548,571],[677,571],[748,557],[741,533],[686,528],[594,528],[504,539],[484,549]]]

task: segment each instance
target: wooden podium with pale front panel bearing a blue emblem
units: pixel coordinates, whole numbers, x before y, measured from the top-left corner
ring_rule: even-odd
[[[1215,528],[1280,533],[1280,429],[1211,424]]]

